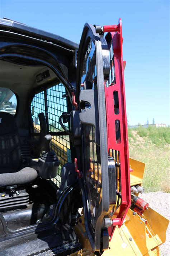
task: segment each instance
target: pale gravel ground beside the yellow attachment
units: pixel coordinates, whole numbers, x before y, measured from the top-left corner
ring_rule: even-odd
[[[149,192],[140,194],[140,197],[149,203],[149,207],[170,220],[170,194],[163,192]],[[170,225],[166,231],[166,242],[160,246],[161,255],[170,255]]]

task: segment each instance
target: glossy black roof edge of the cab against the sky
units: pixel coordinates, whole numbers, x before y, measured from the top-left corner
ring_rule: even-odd
[[[53,33],[49,33],[34,27],[29,27],[23,23],[13,21],[8,18],[0,18],[0,31],[10,31],[20,35],[34,37],[43,41],[47,41],[49,43],[51,42],[53,44],[60,45],[61,47],[70,50],[78,50],[79,48],[79,44],[74,43],[68,39],[65,39],[62,36],[58,36]]]

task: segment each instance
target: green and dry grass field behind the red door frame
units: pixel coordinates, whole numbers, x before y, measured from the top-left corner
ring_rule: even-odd
[[[128,129],[129,156],[146,163],[146,192],[170,193],[170,127]]]

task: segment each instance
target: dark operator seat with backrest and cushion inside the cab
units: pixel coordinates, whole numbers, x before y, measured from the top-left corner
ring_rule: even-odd
[[[0,112],[0,187],[29,184],[37,176],[35,169],[22,168],[20,138],[14,117]]]

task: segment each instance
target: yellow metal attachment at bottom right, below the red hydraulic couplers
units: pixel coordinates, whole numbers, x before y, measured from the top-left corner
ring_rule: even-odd
[[[147,220],[147,224],[145,221]],[[103,256],[144,256],[161,255],[160,245],[165,242],[166,229],[169,220],[148,207],[144,215],[133,215],[128,210],[125,223],[119,229],[115,228],[110,250],[104,251]]]

